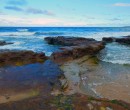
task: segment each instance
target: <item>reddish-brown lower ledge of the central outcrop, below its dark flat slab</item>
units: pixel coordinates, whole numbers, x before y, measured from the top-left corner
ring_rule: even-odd
[[[104,48],[104,45],[101,43],[95,43],[93,45],[86,46],[73,46],[70,48],[64,48],[61,52],[54,52],[51,55],[51,59],[56,62],[64,62],[73,60],[76,58],[83,57],[85,55],[95,55],[101,49]]]

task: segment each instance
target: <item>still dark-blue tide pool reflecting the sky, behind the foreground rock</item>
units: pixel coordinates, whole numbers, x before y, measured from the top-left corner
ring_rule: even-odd
[[[52,85],[59,83],[57,77],[62,74],[58,65],[50,60],[43,64],[0,68],[0,97],[5,96],[5,94],[10,96],[26,93],[26,91],[32,89],[43,89],[42,92],[47,94]],[[24,97],[23,94],[22,97]],[[2,103],[1,100],[0,103]]]

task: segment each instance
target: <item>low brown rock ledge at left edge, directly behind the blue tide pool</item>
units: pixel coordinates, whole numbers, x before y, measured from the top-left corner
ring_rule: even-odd
[[[24,65],[35,62],[43,62],[47,57],[44,53],[33,51],[5,51],[0,53],[0,66],[5,65]]]

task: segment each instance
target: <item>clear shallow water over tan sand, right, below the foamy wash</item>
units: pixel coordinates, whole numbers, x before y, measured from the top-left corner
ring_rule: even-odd
[[[83,65],[88,69],[81,76],[80,86],[84,92],[88,93],[89,89],[90,93],[88,94],[96,97],[130,102],[130,65],[103,61],[94,66]]]

